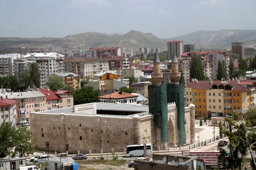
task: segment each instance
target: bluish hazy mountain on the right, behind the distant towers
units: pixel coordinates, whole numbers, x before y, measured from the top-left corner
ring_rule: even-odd
[[[195,44],[196,48],[204,47],[226,47],[232,42],[247,41],[256,38],[255,30],[220,30],[220,31],[195,31],[186,35],[165,40],[182,40],[183,44]]]

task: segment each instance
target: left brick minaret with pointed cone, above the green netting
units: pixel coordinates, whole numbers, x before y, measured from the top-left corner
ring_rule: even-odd
[[[154,63],[154,73],[151,74],[151,77],[152,77],[152,80],[153,80],[153,84],[154,85],[159,85],[162,82],[163,73],[161,73],[161,70],[160,70],[160,60],[159,60],[157,52],[155,53],[153,63]]]

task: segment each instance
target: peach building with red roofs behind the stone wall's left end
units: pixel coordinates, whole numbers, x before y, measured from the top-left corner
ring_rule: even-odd
[[[73,93],[71,91],[58,90],[54,92],[44,88],[40,88],[39,91],[46,96],[46,110],[67,108],[74,105]]]

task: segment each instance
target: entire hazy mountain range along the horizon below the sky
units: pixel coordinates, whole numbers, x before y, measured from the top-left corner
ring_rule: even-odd
[[[141,47],[167,49],[167,41],[182,40],[183,44],[195,44],[195,48],[224,48],[231,42],[243,41],[245,44],[256,44],[256,30],[221,30],[221,31],[195,31],[179,37],[161,39],[152,33],[143,33],[131,30],[120,35],[102,34],[95,32],[68,35],[63,38],[4,38],[0,37],[0,47],[25,47],[25,48],[62,48],[76,49],[78,47],[89,49],[92,47],[122,47],[138,49]]]

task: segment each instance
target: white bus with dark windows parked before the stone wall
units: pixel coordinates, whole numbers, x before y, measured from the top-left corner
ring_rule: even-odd
[[[152,155],[152,145],[150,143],[146,144],[147,155]],[[146,155],[146,156],[147,156]],[[134,144],[126,147],[126,157],[143,156],[144,157],[144,145]]]

